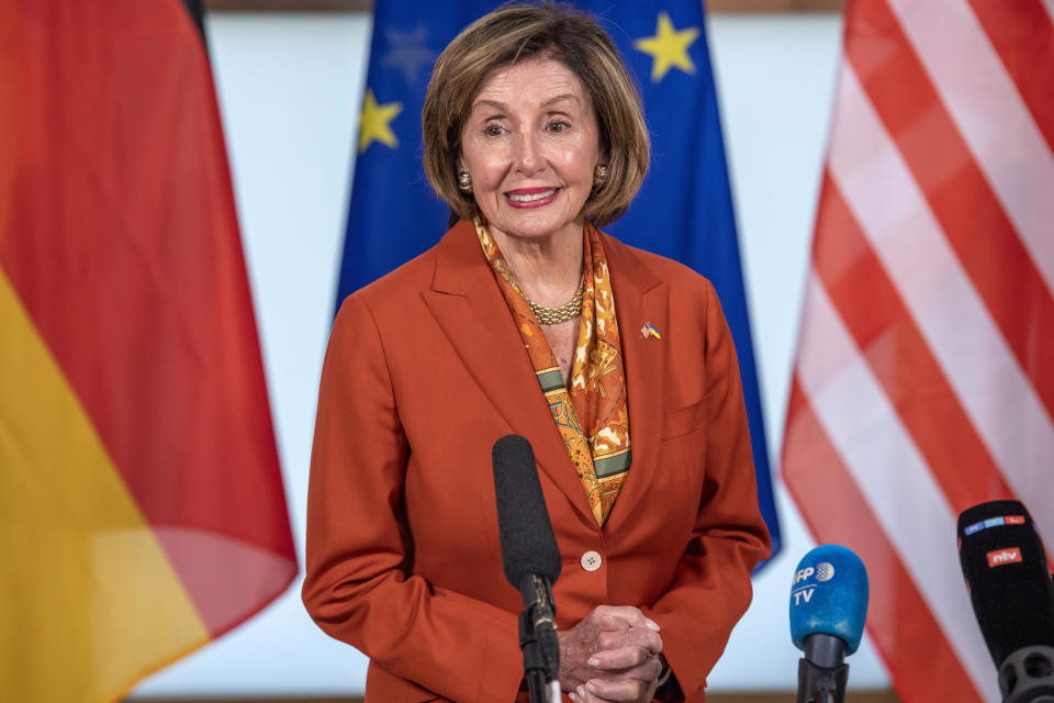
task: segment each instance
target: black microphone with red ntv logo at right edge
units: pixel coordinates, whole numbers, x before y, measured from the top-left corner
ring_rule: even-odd
[[[1005,703],[1054,703],[1054,585],[1043,542],[1018,501],[958,516],[958,560]]]

